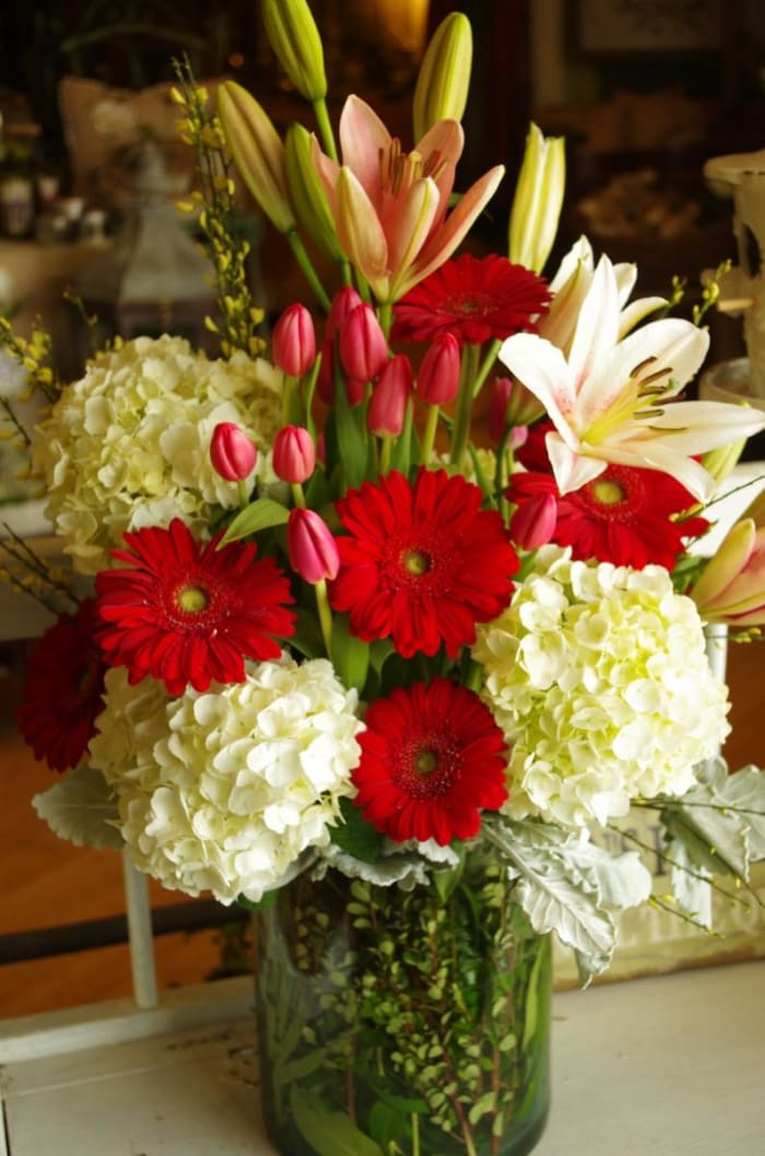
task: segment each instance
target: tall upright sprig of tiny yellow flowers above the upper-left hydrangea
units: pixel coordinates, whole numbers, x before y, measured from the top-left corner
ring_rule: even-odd
[[[265,313],[250,291],[247,258],[251,246],[236,228],[236,186],[229,176],[231,161],[225,138],[218,118],[208,112],[207,90],[196,84],[188,60],[173,65],[178,87],[172,90],[172,99],[184,113],[179,124],[180,139],[194,150],[201,186],[178,207],[186,213],[199,212],[202,246],[213,264],[220,313],[217,319],[206,317],[205,325],[220,336],[224,357],[230,357],[235,349],[257,357],[266,348],[266,342],[255,333]]]

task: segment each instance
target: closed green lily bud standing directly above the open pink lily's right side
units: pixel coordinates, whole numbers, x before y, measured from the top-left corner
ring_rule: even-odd
[[[461,120],[470,87],[473,31],[461,12],[440,22],[423,57],[413,104],[415,140],[438,120]]]

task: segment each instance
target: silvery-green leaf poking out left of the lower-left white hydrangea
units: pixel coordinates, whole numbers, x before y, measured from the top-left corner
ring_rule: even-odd
[[[53,835],[68,839],[75,847],[121,851],[125,846],[118,830],[117,800],[101,771],[87,763],[35,795],[32,807]]]

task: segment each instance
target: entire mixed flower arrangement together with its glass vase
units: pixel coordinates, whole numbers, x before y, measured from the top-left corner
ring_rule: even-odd
[[[544,966],[532,939],[555,932],[588,978],[608,965],[615,912],[649,899],[638,853],[599,831],[655,808],[691,920],[714,876],[747,884],[765,857],[765,780],[716,757],[727,690],[705,650],[710,623],[749,638],[765,622],[762,503],[714,557],[693,551],[765,418],[682,400],[707,353],[704,309],[684,320],[675,302],[631,299],[636,268],[595,260],[585,238],[542,276],[564,161],[534,126],[508,255],[458,252],[504,175],[453,203],[466,17],[426,51],[414,150],[355,96],[337,150],[307,6],[262,10],[317,134],[282,140],[235,82],[210,118],[183,67],[176,94],[221,355],[117,339],[61,385],[45,341],[2,323],[50,402],[32,436],[3,406],[69,563],[6,543],[7,577],[59,614],[20,712],[36,755],[67,772],[36,807],[64,837],[125,846],[168,888],[266,921],[297,887],[297,947],[267,922],[261,975],[275,1070],[307,1081],[289,1111],[281,1085],[268,1107],[290,1151],[350,1127],[348,1150],[401,1153],[394,1118],[413,1154],[505,1151],[505,1118],[539,1114],[543,1082],[526,1054]],[[231,232],[231,162],[315,298],[285,310],[270,351]],[[334,881],[336,907],[339,877],[356,935],[342,950],[314,899]],[[484,939],[467,946],[477,911]],[[497,951],[484,1052],[469,977]],[[309,1015],[284,973],[319,961],[330,979]],[[359,1055],[386,1036],[395,1095]],[[352,1070],[341,1127],[319,1087]]]

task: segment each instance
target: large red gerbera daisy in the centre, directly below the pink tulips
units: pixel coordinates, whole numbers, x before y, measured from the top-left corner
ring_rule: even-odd
[[[476,622],[508,605],[518,556],[502,518],[461,475],[421,467],[414,486],[393,470],[337,502],[348,536],[329,598],[350,613],[351,633],[393,639],[404,658],[454,658],[475,642]]]

